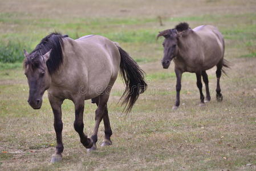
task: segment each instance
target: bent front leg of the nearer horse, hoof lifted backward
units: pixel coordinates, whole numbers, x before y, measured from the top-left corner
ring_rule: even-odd
[[[94,142],[91,139],[87,138],[87,135],[84,134],[84,123],[83,123],[83,112],[84,112],[84,99],[80,101],[74,101],[75,103],[75,121],[74,128],[80,136],[80,142],[86,148],[91,148]]]

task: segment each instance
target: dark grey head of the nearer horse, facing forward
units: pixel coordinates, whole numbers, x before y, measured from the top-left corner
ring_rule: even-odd
[[[51,84],[51,76],[46,66],[50,54],[51,50],[44,55],[38,51],[28,54],[24,50],[25,75],[27,76],[27,83],[29,83],[29,99],[27,102],[29,102],[33,109],[41,108],[43,93]]]

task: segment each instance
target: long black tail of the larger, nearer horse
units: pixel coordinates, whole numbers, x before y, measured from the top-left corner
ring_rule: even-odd
[[[138,64],[125,52],[121,47],[117,46],[120,55],[120,73],[125,83],[125,91],[121,96],[124,99],[122,104],[125,104],[125,112],[130,112],[135,101],[138,99],[140,93],[147,89],[147,83],[144,81],[144,71]]]

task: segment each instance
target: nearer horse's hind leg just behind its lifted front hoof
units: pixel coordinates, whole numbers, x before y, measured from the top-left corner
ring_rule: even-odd
[[[89,152],[91,150],[96,149],[97,132],[99,131],[99,125],[100,125],[101,120],[107,114],[108,97],[109,97],[109,93],[104,92],[102,95],[96,97],[97,99],[94,98],[95,103],[97,104],[97,109],[95,111],[95,127],[94,127],[94,132],[92,133],[92,136],[91,136],[91,139],[94,141],[94,145],[90,149],[88,149]],[[105,123],[105,121],[104,121],[104,123]],[[110,136],[109,136],[109,138],[110,138]]]

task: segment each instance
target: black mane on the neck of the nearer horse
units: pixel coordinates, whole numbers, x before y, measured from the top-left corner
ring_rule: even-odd
[[[46,65],[50,74],[53,74],[58,70],[60,64],[63,61],[63,38],[67,35],[62,35],[59,32],[52,32],[41,40],[41,42],[35,47],[35,49],[30,53],[29,59],[26,60],[25,65],[32,64],[36,61],[39,55],[44,55],[48,51],[51,51],[50,58],[47,60]]]

